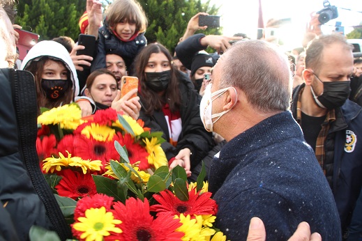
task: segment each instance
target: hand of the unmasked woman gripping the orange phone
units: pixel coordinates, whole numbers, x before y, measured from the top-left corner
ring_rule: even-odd
[[[128,100],[133,94],[137,93],[137,88],[131,90],[121,98],[121,91],[117,91],[116,98],[114,98],[111,107],[116,111],[123,111],[124,114],[137,120],[141,104],[139,104],[139,97],[136,96]]]

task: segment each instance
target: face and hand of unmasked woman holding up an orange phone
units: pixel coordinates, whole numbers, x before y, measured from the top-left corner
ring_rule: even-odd
[[[112,107],[137,120],[141,109],[139,97],[130,98],[137,93],[137,89],[131,90],[121,98],[121,91],[117,86],[116,75],[113,72],[98,69],[91,72],[86,79],[84,94],[96,103],[96,111]]]

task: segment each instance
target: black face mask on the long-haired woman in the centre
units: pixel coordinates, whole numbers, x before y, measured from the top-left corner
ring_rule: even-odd
[[[146,86],[156,92],[165,91],[169,80],[171,79],[171,70],[163,72],[145,72],[145,74]]]

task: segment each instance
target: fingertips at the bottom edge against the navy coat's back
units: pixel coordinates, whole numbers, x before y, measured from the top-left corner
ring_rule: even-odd
[[[266,240],[266,231],[262,219],[259,217],[253,217],[250,220],[249,233],[246,241],[265,241]],[[310,235],[310,226],[306,221],[302,221],[298,228],[296,228],[295,233],[288,241],[322,241],[321,235],[319,233],[313,233]]]

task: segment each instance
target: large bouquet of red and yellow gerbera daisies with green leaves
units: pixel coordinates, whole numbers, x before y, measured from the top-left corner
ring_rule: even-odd
[[[204,168],[190,185],[181,166],[169,171],[162,132],[114,109],[81,118],[77,104],[45,110],[38,124],[40,166],[74,238],[226,240]]]

